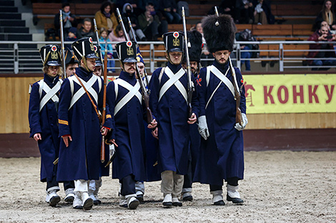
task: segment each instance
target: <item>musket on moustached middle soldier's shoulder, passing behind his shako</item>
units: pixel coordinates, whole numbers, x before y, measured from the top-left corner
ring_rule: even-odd
[[[129,36],[127,35],[126,28],[124,26],[124,22],[122,21],[122,15],[120,14],[119,9],[117,8],[117,16],[119,19],[119,23],[122,26],[122,31],[124,32],[124,35],[126,36],[126,40],[129,41]],[[132,26],[132,25],[131,25]],[[137,63],[135,63],[135,68],[136,68],[136,75],[140,83],[140,88],[142,91],[142,98],[144,99],[144,104],[146,106],[146,113],[147,113],[147,124],[152,123],[153,120],[153,115],[152,111],[149,108],[149,95],[147,93],[146,88],[144,87],[144,81],[142,81],[141,75],[140,75],[140,70],[139,67],[137,66]]]

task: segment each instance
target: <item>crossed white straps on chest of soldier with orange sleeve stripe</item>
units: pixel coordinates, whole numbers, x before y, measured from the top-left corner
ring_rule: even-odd
[[[78,83],[80,86],[81,86],[81,83],[83,83],[83,85],[85,86],[85,88],[87,88],[87,91],[92,95],[92,97],[94,98],[94,100],[98,104],[98,94],[97,94],[97,91],[94,90],[94,88],[92,88],[92,86],[94,85],[94,83],[96,83],[96,81],[97,81],[97,76],[93,75],[92,78],[90,78],[89,81],[87,81],[87,82],[85,82],[83,79],[81,79],[81,83],[79,83],[79,81],[76,78],[76,76],[70,76],[69,77],[69,81],[70,81],[70,85],[71,85],[71,81],[74,81],[74,82]],[[85,94],[84,88],[81,87],[81,88],[79,88],[79,90],[77,90],[77,92],[71,98],[69,110],[74,105],[74,103],[76,103],[76,101],[79,100],[79,98],[81,98],[81,96],[84,95],[84,94]]]

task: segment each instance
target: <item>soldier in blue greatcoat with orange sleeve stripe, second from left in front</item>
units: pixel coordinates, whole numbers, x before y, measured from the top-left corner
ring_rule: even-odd
[[[80,66],[61,86],[59,135],[63,140],[57,180],[74,180],[73,207],[87,210],[93,205],[87,182],[99,180],[102,135],[111,128],[112,118],[107,112],[104,126],[100,127],[98,116],[103,107],[104,83],[102,78],[92,74],[98,58],[92,38],[81,38],[72,43],[72,48]]]

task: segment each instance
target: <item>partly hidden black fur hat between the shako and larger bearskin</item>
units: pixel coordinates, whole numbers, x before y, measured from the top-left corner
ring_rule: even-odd
[[[190,47],[188,48],[189,61],[201,61],[202,34],[197,30],[187,32]],[[189,44],[188,44],[189,45]]]

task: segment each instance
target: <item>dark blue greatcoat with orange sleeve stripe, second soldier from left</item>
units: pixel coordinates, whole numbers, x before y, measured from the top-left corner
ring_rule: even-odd
[[[76,68],[76,74],[86,82],[93,76],[92,72],[81,67]],[[102,84],[99,91],[98,81],[97,79],[92,87],[98,94],[98,105],[90,95],[97,107],[102,108],[104,90]],[[80,88],[81,85],[74,82],[72,95]],[[71,97],[69,78],[66,78],[61,86],[59,100],[59,135],[71,135],[72,141],[69,142],[69,147],[66,147],[64,141],[61,140],[57,180],[98,180],[101,172],[100,149],[102,144],[99,119],[87,93],[81,95],[81,98],[69,109]],[[108,106],[104,126],[107,128],[112,126]]]

